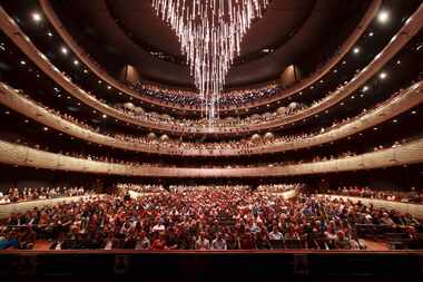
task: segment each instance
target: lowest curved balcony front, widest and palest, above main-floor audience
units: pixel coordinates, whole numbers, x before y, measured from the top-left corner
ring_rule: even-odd
[[[423,138],[357,156],[317,163],[245,168],[188,168],[111,164],[49,153],[0,140],[0,163],[37,168],[144,177],[274,177],[338,173],[423,162]]]

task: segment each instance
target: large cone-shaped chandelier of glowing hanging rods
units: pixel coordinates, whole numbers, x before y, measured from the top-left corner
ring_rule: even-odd
[[[153,0],[153,8],[176,32],[201,107],[213,126],[219,94],[240,42],[270,0]]]

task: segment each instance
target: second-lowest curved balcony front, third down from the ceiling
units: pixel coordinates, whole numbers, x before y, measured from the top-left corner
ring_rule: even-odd
[[[395,97],[384,101],[373,110],[365,111],[364,114],[351,119],[348,123],[329,128],[325,133],[319,133],[314,136],[291,142],[275,142],[274,144],[249,146],[247,148],[245,148],[242,144],[235,146],[234,148],[229,148],[229,146],[228,148],[198,148],[194,145],[191,145],[191,147],[189,147],[189,145],[188,147],[176,145],[171,146],[171,144],[167,143],[156,143],[149,145],[142,144],[141,142],[122,140],[114,136],[94,132],[92,129],[63,119],[4,84],[0,84],[0,103],[50,128],[99,145],[153,154],[216,157],[279,153],[338,140],[372,128],[409,110],[410,108],[420,105],[423,101],[422,93],[423,81],[420,81],[403,90]]]

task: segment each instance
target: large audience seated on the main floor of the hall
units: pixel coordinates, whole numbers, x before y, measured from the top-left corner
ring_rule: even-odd
[[[201,188],[137,200],[99,196],[10,214],[0,247],[52,250],[360,250],[357,224],[421,231],[410,214],[360,202],[249,189]]]

